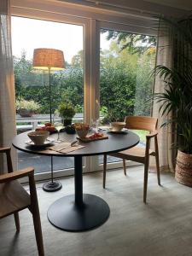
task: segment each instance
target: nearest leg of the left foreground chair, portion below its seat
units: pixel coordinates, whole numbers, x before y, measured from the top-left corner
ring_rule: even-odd
[[[41,220],[39,215],[38,206],[32,209],[32,219],[34,224],[35,236],[38,245],[38,255],[44,256],[44,242],[41,229]]]

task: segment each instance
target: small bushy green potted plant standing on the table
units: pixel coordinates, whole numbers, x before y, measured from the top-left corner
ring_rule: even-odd
[[[75,109],[71,103],[61,103],[59,108],[59,113],[61,115],[61,119],[63,120],[63,125],[71,125],[73,116],[75,115]]]

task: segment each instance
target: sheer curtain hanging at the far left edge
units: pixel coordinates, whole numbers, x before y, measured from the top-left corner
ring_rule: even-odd
[[[0,4],[0,147],[11,146],[16,135],[15,82],[11,50],[11,16],[9,0]],[[16,168],[16,150],[12,148]],[[5,159],[1,156],[0,173],[6,172]]]

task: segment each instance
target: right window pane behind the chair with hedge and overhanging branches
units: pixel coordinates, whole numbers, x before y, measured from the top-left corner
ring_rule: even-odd
[[[101,29],[100,105],[103,125],[127,115],[150,116],[156,38]],[[104,117],[104,118],[103,118]],[[135,131],[144,146],[146,131]],[[108,158],[108,162],[119,159]],[[102,158],[100,158],[102,163]]]

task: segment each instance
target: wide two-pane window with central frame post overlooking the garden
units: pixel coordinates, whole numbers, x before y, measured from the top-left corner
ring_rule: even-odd
[[[32,15],[29,10],[26,15],[28,13]],[[22,118],[17,113],[18,132],[49,121],[49,78],[47,73],[36,73],[32,69],[32,53],[36,48],[61,49],[65,55],[66,69],[51,74],[55,119],[60,119],[57,108],[63,101],[75,106],[74,122],[95,120],[98,107],[102,125],[123,120],[129,114],[150,115],[151,105],[146,100],[153,89],[150,72],[154,67],[156,41],[155,37],[143,34],[143,26],[142,34],[138,31],[133,34],[125,32],[130,26],[121,26],[118,21],[108,23],[39,12],[36,15],[45,20],[12,17],[16,99],[38,103],[32,118]],[[57,22],[48,21],[48,16]],[[100,106],[96,106],[97,99]],[[145,133],[139,132],[139,136],[143,145]],[[85,165],[89,167],[85,172],[102,169],[102,156],[86,160],[92,164]],[[108,158],[108,162],[112,167],[120,166],[118,159]],[[35,166],[36,172],[50,170],[49,158],[19,152],[19,167],[25,167],[26,163]],[[68,170],[73,169],[73,159],[54,158],[54,169],[72,173]]]

